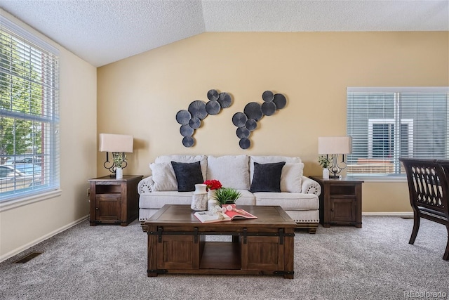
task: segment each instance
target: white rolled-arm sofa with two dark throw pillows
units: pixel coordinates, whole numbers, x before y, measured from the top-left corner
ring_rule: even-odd
[[[220,181],[223,187],[236,188],[241,192],[241,197],[236,200],[237,205],[279,205],[296,221],[298,228],[307,228],[309,233],[315,233],[318,228],[321,187],[316,181],[303,176],[304,164],[300,157],[248,155],[157,157],[155,162],[149,165],[152,176],[143,178],[138,185],[139,220],[142,225],[164,204],[192,202],[193,190],[178,191],[178,180],[186,179],[181,178],[182,174],[178,168],[178,173],[175,174],[171,162],[183,163],[182,167],[189,167],[187,171],[193,170],[195,174],[187,175],[187,180],[196,175],[202,176],[203,181],[215,179]],[[281,164],[274,164],[279,162]],[[279,166],[282,164],[283,166]],[[175,167],[177,165],[180,164],[175,164]],[[201,178],[197,178],[197,181],[199,180]],[[279,187],[280,191],[260,191],[265,190],[265,185],[269,190]],[[184,183],[180,182],[181,186],[184,186]],[[144,226],[142,228],[145,229]]]

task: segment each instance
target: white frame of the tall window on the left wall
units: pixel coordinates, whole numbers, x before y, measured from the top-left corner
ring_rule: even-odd
[[[0,191],[0,211],[12,209],[15,207],[20,207],[25,204],[29,204],[32,202],[38,202],[46,199],[50,199],[53,197],[57,197],[60,195],[60,166],[59,166],[59,72],[60,72],[60,64],[59,64],[59,50],[55,48],[51,44],[48,44],[46,41],[43,41],[41,38],[37,37],[36,34],[32,34],[31,32],[25,30],[20,25],[15,24],[15,22],[8,20],[8,18],[3,15],[0,18],[0,28],[1,28],[1,36],[10,37],[10,39],[18,41],[18,45],[24,48],[18,48],[18,53],[20,56],[28,53],[27,51],[33,51],[32,53],[41,53],[41,60],[35,60],[34,56],[26,57],[28,63],[33,65],[34,67],[41,67],[41,71],[39,71],[39,86],[42,86],[42,91],[37,98],[41,105],[42,111],[39,114],[28,114],[26,112],[19,112],[11,109],[4,109],[0,107],[0,116],[5,118],[21,119],[21,120],[29,120],[32,122],[33,127],[39,128],[41,126],[41,131],[46,130],[46,141],[41,141],[39,144],[36,144],[36,141],[33,140],[32,148],[36,145],[41,145],[41,147],[48,148],[45,149],[45,152],[42,152],[41,155],[47,159],[45,164],[45,171],[43,170],[43,174],[46,174],[41,180],[45,181],[45,185],[36,186],[33,188],[27,189],[19,189],[18,191],[14,190],[13,193],[11,191]],[[25,49],[23,52],[20,49]],[[11,52],[12,53],[12,52]],[[16,53],[16,52],[14,52]],[[44,53],[44,54],[42,54]],[[15,55],[15,54],[14,54]],[[8,57],[7,57],[8,58]],[[50,59],[50,63],[46,59]],[[12,60],[11,60],[12,61]],[[21,61],[21,60],[20,60]],[[17,76],[13,71],[8,70],[6,68],[2,69],[2,65],[0,65],[0,71],[2,74],[6,74],[6,77]],[[32,81],[30,81],[32,82]],[[7,83],[8,84],[8,83]],[[34,84],[36,82],[34,81]],[[11,98],[11,101],[14,99]],[[47,106],[46,106],[47,105]],[[43,125],[45,124],[45,126]],[[48,127],[44,129],[44,127]],[[38,129],[39,130],[39,129]],[[34,131],[33,131],[34,132]],[[32,133],[33,135],[34,133]],[[48,140],[47,140],[48,138]],[[8,156],[17,156],[18,152],[13,150],[13,153],[6,153]],[[33,152],[34,155],[34,152]],[[25,156],[25,155],[21,155]],[[42,158],[43,158],[42,157]],[[43,159],[42,159],[43,160]],[[13,166],[13,164],[12,164]],[[48,184],[47,184],[48,183]]]

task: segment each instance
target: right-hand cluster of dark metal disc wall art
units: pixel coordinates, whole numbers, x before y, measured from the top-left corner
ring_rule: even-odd
[[[239,146],[242,149],[248,149],[251,146],[249,136],[252,131],[257,129],[257,122],[263,116],[271,116],[277,110],[286,107],[287,99],[281,93],[273,93],[272,91],[264,91],[262,93],[264,103],[260,105],[257,102],[250,102],[245,105],[243,112],[236,112],[232,116],[232,124],[237,127],[236,135],[240,138]]]

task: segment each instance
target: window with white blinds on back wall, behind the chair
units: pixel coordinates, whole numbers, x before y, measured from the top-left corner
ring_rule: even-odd
[[[399,157],[449,157],[448,87],[347,89],[348,175],[405,175]]]

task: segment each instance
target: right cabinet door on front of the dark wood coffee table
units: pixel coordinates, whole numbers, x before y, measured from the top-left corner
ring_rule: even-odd
[[[246,244],[241,241],[242,270],[283,270],[283,246],[279,237],[247,237]]]

